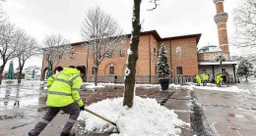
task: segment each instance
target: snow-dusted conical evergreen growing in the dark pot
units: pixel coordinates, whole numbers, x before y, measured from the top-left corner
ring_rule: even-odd
[[[160,45],[159,61],[157,64],[158,75],[164,78],[165,75],[170,73],[170,68],[167,63],[167,50],[163,44]]]

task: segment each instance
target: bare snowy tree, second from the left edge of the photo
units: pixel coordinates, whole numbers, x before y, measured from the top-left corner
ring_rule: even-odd
[[[27,35],[24,30],[18,29],[15,33],[15,54],[19,62],[19,74],[18,74],[18,83],[21,83],[22,71],[25,63],[32,56],[39,55],[39,48],[37,48],[37,42],[34,38]]]

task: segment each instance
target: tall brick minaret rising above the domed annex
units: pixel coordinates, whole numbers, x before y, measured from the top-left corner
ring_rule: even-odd
[[[218,26],[219,46],[224,51],[224,58],[229,59],[228,40],[226,32],[227,13],[224,13],[224,0],[214,0],[216,4],[217,15],[215,16],[215,23]]]

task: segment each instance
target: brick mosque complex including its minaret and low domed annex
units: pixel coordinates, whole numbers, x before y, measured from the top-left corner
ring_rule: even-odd
[[[201,34],[161,38],[156,30],[141,32],[136,82],[159,82],[156,66],[160,44],[164,44],[168,52],[167,61],[171,68],[171,73],[168,76],[171,82],[192,81],[195,74],[201,75],[204,71],[210,74],[211,79],[215,79],[217,74],[222,73],[226,82],[236,81],[235,65],[237,63],[231,61],[229,57],[226,32],[228,15],[224,13],[224,0],[213,0],[213,2],[217,11],[214,20],[218,28],[219,46],[205,46],[198,51],[197,44]],[[126,68],[127,50],[130,46],[130,36],[127,35],[123,50],[111,54],[100,63],[98,68],[99,82],[114,82],[115,75],[117,75],[117,82],[124,82],[123,76]],[[60,62],[58,66],[84,66],[87,68],[86,80],[94,81],[93,56],[91,52],[86,51],[82,44],[83,42],[73,43],[73,56]],[[47,61],[43,57],[42,79],[45,78],[46,69]]]

